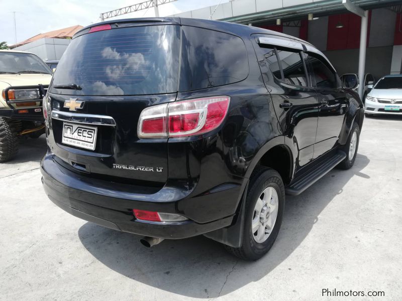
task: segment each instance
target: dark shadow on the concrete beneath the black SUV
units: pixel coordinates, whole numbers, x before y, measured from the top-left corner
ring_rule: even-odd
[[[100,262],[135,281],[183,296],[215,298],[258,281],[281,264],[303,242],[320,213],[335,196],[342,194],[353,176],[370,178],[361,172],[369,162],[366,156],[358,154],[352,169],[334,169],[302,195],[287,196],[278,238],[269,253],[256,262],[239,260],[220,243],[204,236],[165,240],[145,248],[137,235],[92,223],[81,226],[78,236]],[[238,268],[241,273],[236,273]]]

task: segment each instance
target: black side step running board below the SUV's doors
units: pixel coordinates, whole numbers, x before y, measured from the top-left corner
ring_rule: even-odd
[[[346,154],[342,150],[339,150],[333,157],[324,160],[317,167],[293,179],[285,189],[286,194],[291,196],[299,195],[325,176],[345,158]]]

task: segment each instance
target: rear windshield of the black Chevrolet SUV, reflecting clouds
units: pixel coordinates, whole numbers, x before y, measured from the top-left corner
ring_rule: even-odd
[[[73,39],[51,91],[75,95],[143,95],[177,91],[180,29],[175,25],[119,28]],[[81,90],[56,89],[75,84]]]

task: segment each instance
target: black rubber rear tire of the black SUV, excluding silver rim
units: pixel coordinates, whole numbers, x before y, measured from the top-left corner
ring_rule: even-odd
[[[258,243],[254,238],[252,223],[256,219],[255,209],[257,199],[262,196],[266,189],[274,189],[277,197],[277,216],[272,231],[266,240]],[[257,260],[265,255],[275,242],[282,223],[283,210],[285,206],[285,189],[282,178],[273,169],[258,167],[250,178],[249,189],[246,197],[244,216],[244,228],[242,245],[239,248],[225,246],[233,255],[244,260]],[[264,232],[265,233],[265,232]]]

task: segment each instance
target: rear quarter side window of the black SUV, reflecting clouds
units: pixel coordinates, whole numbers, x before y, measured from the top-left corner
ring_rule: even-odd
[[[183,26],[179,91],[235,83],[248,75],[246,46],[239,37]]]

